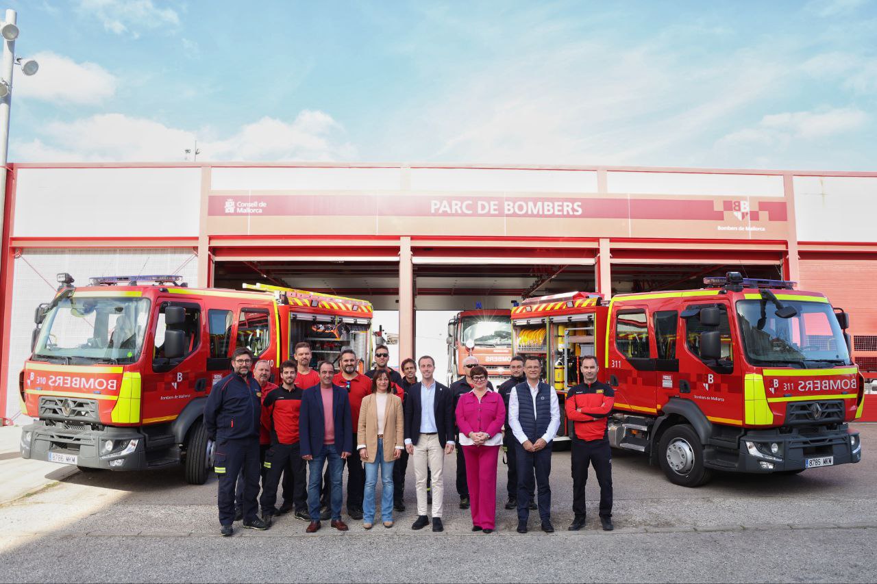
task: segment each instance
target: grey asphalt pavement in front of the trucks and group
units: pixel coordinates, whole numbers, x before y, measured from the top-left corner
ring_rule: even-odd
[[[718,474],[694,489],[671,484],[640,454],[614,451],[612,532],[599,526],[593,474],[588,524],[566,531],[572,521],[569,453],[555,452],[558,531],[551,535],[538,531],[536,512],[531,531],[517,534],[515,512],[503,509],[502,462],[494,534],[469,531],[449,456],[445,533],[410,530],[416,501],[409,467],[408,509],[396,513],[389,530],[378,523],[365,531],[345,515],[350,531],[324,523],[308,535],[306,523],[282,516],[268,531],[241,530],[236,523],[232,538],[218,537],[214,477],[191,486],[177,469],[81,473],[53,465],[45,484],[0,505],[0,580],[875,581],[877,473],[869,445],[877,444],[877,424],[857,427],[859,464],[795,476]],[[0,473],[10,460],[14,456],[0,452]]]

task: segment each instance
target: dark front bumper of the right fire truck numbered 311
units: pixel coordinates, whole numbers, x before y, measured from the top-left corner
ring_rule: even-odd
[[[756,447],[753,454],[747,443],[761,447]],[[772,444],[779,445],[777,453],[771,452]],[[830,456],[833,457],[831,466],[859,462],[862,458],[859,432],[850,430],[846,424],[838,430],[817,432],[747,431],[740,438],[738,470],[745,473],[798,471],[807,468],[808,459]]]

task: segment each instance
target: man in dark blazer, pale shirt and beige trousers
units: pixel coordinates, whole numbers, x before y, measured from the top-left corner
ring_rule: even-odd
[[[414,457],[417,486],[417,521],[412,530],[430,524],[427,515],[426,475],[432,474],[432,531],[444,531],[441,523],[445,481],[445,456],[453,452],[453,395],[433,379],[435,361],[424,355],[418,361],[423,379],[405,396],[405,450]]]

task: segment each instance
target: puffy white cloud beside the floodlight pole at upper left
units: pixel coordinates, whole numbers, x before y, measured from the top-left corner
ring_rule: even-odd
[[[117,78],[88,61],[77,63],[51,52],[32,55],[39,62],[37,75],[28,77],[16,72],[15,96],[46,102],[95,104],[116,93]]]

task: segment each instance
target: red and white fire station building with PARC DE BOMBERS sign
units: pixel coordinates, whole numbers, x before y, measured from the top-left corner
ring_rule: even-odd
[[[12,164],[4,208],[0,409],[18,412],[33,311],[57,287],[182,274],[364,298],[421,313],[508,309],[573,290],[797,281],[850,313],[877,377],[877,172],[424,164]],[[436,331],[432,331],[435,336]],[[444,331],[438,331],[444,336]]]

